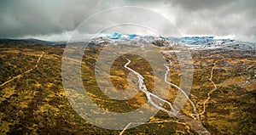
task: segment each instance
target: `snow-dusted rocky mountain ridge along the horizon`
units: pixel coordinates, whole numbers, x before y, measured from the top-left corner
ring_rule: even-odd
[[[160,47],[185,45],[189,49],[207,49],[207,48],[236,48],[254,51],[256,44],[253,42],[240,42],[232,39],[216,39],[214,37],[153,37],[140,36],[137,34],[112,33],[102,37],[96,37],[90,40],[91,45],[108,45],[108,43],[133,43],[142,44],[143,42],[153,43]]]

